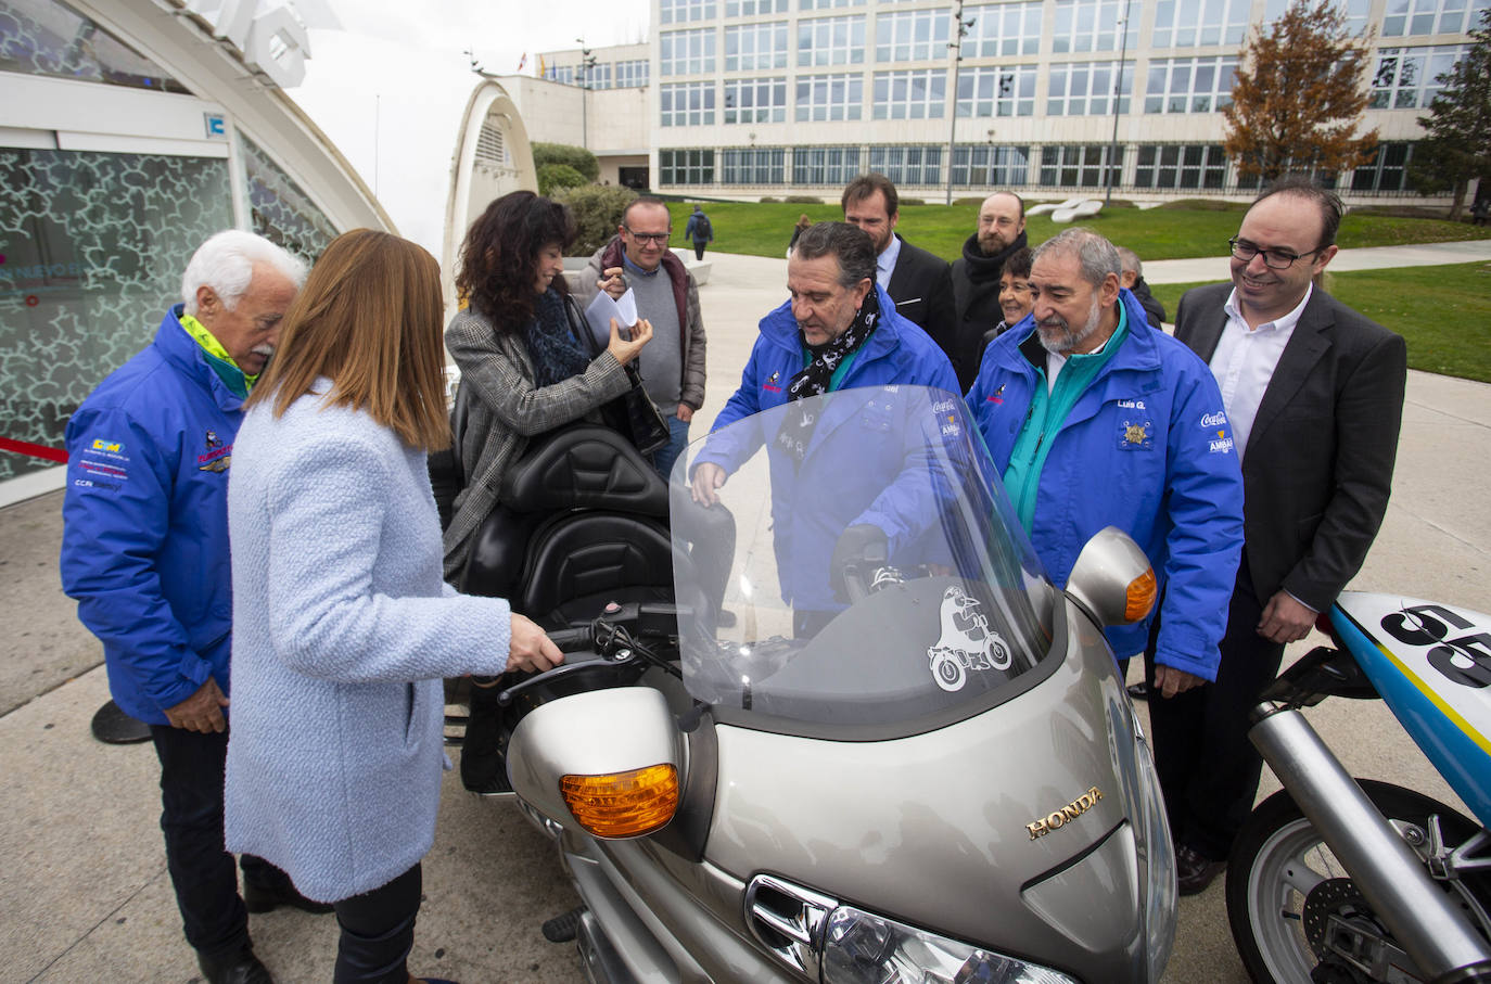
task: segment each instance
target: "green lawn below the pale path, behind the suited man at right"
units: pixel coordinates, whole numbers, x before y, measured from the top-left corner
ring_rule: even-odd
[[[1150,289],[1175,318],[1175,304],[1193,286],[1200,285],[1154,283]],[[1355,270],[1330,274],[1325,288],[1408,338],[1412,368],[1491,383],[1491,262]]]

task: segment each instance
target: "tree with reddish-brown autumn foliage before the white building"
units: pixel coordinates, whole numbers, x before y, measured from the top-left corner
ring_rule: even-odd
[[[1372,160],[1378,131],[1357,134],[1367,107],[1367,34],[1352,37],[1325,0],[1293,0],[1243,45],[1224,149],[1245,176],[1345,174]]]

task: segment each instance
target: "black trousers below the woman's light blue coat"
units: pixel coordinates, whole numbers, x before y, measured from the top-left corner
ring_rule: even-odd
[[[388,884],[337,902],[334,984],[407,984],[422,886],[416,863]]]

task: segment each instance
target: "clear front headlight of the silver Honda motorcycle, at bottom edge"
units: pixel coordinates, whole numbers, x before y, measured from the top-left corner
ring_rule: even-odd
[[[1173,875],[1172,875],[1173,883]],[[841,905],[823,932],[825,984],[1077,984],[1071,977]]]

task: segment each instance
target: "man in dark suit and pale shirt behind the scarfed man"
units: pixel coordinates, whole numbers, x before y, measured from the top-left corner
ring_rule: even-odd
[[[860,174],[839,198],[844,221],[869,233],[875,245],[875,283],[896,303],[896,313],[932,335],[956,359],[953,276],[947,261],[917,249],[896,233],[901,200],[884,174]]]

